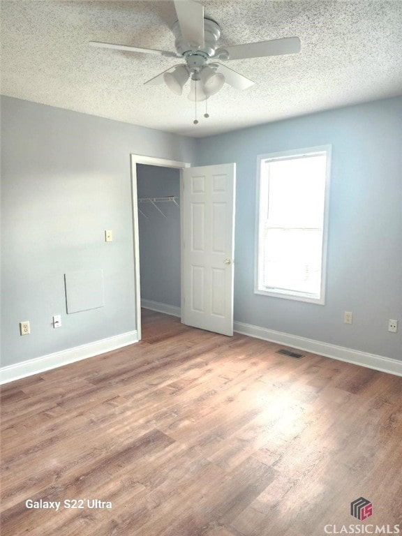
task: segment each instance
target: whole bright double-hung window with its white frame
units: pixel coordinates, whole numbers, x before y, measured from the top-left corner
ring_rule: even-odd
[[[324,304],[330,156],[258,156],[255,293]]]

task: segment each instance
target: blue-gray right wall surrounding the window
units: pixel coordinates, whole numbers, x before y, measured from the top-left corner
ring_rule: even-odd
[[[401,125],[393,98],[198,140],[196,164],[237,163],[235,320],[402,359]],[[256,157],[322,144],[332,144],[326,304],[255,295]]]

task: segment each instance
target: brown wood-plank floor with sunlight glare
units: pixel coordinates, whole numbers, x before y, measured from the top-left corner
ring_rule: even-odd
[[[141,343],[3,386],[3,536],[402,533],[402,378],[143,315]]]

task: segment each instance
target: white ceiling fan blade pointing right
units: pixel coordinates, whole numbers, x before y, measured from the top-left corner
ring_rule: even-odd
[[[220,52],[228,52],[228,59],[261,58],[265,56],[280,56],[282,54],[297,54],[300,52],[300,39],[298,37],[285,37],[283,39],[272,39],[270,41],[260,41],[260,43],[246,43],[245,45],[234,45],[233,47],[223,47],[215,52],[219,57]],[[222,56],[224,59],[224,55]]]

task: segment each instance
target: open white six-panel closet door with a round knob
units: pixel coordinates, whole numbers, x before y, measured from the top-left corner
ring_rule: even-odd
[[[184,170],[181,322],[233,334],[235,164]]]

